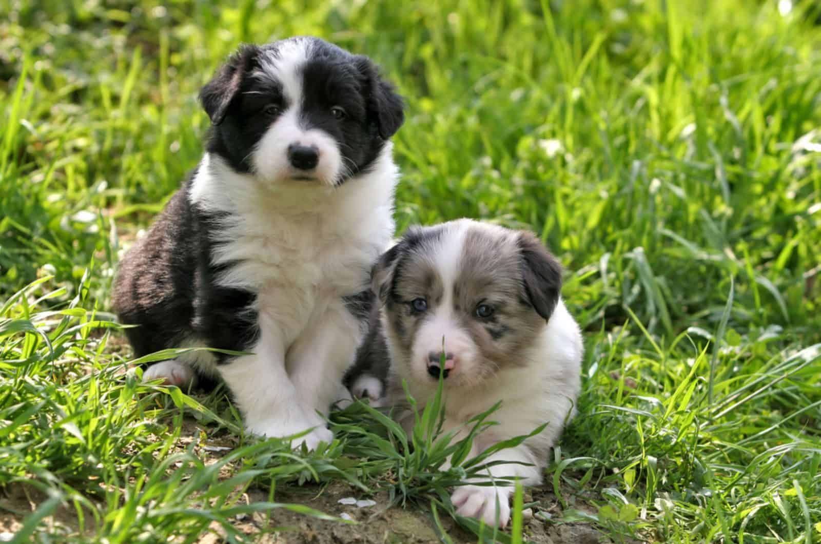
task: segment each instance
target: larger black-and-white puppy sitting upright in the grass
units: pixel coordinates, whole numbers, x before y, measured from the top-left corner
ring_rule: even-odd
[[[389,138],[401,98],[369,58],[298,37],[239,49],[204,86],[207,152],[120,264],[113,302],[137,356],[194,351],[144,379],[218,377],[247,429],[330,441],[393,233]]]

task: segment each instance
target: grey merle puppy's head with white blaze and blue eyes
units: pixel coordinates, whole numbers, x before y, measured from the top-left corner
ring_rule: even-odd
[[[374,267],[392,362],[417,383],[441,372],[446,387],[524,365],[561,284],[533,234],[468,219],[410,229]]]

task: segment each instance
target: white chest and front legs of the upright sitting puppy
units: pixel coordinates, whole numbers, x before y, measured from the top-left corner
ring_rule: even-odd
[[[216,367],[248,430],[329,441],[322,417],[342,396],[362,330],[342,297],[369,287],[369,270],[393,233],[397,168],[388,142],[368,173],[340,187],[260,182],[206,154],[190,189],[204,210],[227,212],[214,264],[235,262],[218,283],[259,293],[251,356]]]

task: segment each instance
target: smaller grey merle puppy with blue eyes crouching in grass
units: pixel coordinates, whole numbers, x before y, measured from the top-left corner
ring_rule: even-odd
[[[374,267],[382,307],[348,376],[356,396],[394,406],[410,431],[414,413],[402,380],[421,408],[441,375],[444,430],[458,429],[456,440],[471,417],[502,401],[490,417],[500,425],[475,438],[470,457],[548,423],[490,455],[487,463],[502,462],[487,470],[493,486],[472,482],[454,491],[461,515],[507,525],[513,487],[499,478],[539,484],[548,449],[574,413],[583,346],[561,284],[557,260],[533,234],[470,219],[410,229]]]

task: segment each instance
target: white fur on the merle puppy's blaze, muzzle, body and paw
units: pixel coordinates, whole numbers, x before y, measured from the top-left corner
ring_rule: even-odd
[[[476,222],[459,221],[455,227],[443,235],[443,245],[431,251],[433,262],[442,274],[446,294],[450,297],[452,282],[455,277],[451,270],[458,269],[458,257],[461,256],[461,241],[464,230],[469,224],[484,225]],[[501,228],[486,225],[482,228]],[[456,243],[454,241],[459,241]],[[488,256],[492,258],[492,256]],[[447,275],[450,274],[450,275]],[[451,371],[445,381],[443,397],[445,402],[444,431],[456,431],[456,440],[466,436],[466,423],[479,413],[486,412],[493,404],[502,401],[501,408],[492,414],[490,419],[498,422],[488,431],[484,431],[474,443],[470,457],[479,454],[499,441],[515,436],[530,434],[538,426],[548,423],[539,435],[527,440],[524,444],[512,449],[503,449],[493,454],[487,463],[504,461],[487,470],[488,479],[493,486],[476,486],[475,482],[456,488],[452,502],[459,514],[484,519],[487,523],[505,526],[510,518],[509,500],[513,487],[511,482],[500,478],[517,478],[522,485],[538,485],[542,481],[542,469],[547,462],[548,449],[555,443],[562,427],[575,413],[576,397],[580,391],[581,357],[584,350],[581,333],[576,321],[567,311],[560,299],[547,324],[538,334],[534,343],[525,350],[524,356],[515,365],[502,367],[493,376],[484,380],[470,380],[470,357],[475,353],[470,338],[461,332],[459,326],[451,319],[448,300],[443,300],[441,315],[437,315],[430,330],[420,328],[415,339],[412,357],[414,361],[401,362],[400,350],[393,347],[395,342],[389,333],[387,316],[382,312],[383,330],[388,332],[388,352],[391,355],[391,372],[394,383],[406,379],[410,394],[424,406],[433,397],[437,382],[431,380],[418,360],[424,355],[427,361],[428,350],[438,351],[442,346],[443,333],[446,349],[452,349],[461,361]],[[437,327],[440,327],[437,329]],[[450,336],[448,336],[450,334]],[[415,363],[415,364],[414,364]],[[405,369],[404,371],[398,369]],[[406,372],[407,376],[397,376]],[[464,376],[465,373],[468,376]],[[458,379],[462,373],[462,379]],[[399,394],[398,391],[393,391]],[[388,403],[401,403],[403,399],[387,399]],[[398,414],[400,422],[407,431],[414,424],[412,413]],[[538,453],[534,453],[538,452]],[[528,463],[523,465],[519,463]],[[487,480],[485,480],[487,481]],[[497,508],[497,505],[499,508]]]

